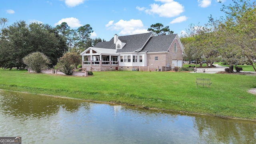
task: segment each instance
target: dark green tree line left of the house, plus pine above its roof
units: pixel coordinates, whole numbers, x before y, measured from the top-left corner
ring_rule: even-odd
[[[38,22],[26,24],[23,20],[14,22],[10,26],[7,24],[8,19],[0,18],[0,67],[4,69],[34,67],[29,64],[33,62],[28,58],[34,58],[37,66],[41,65],[41,68],[71,65],[70,62],[73,62],[72,66],[77,66],[82,62],[79,56],[82,51],[95,46],[98,42],[106,41],[101,38],[90,38],[93,30],[89,24],[80,26],[76,30],[70,29],[66,22],[56,27]],[[156,35],[173,33],[168,26],[164,27],[160,23],[152,24],[148,31]],[[36,56],[38,58],[35,58]],[[46,63],[42,64],[40,58]],[[49,60],[46,60],[47,58]],[[64,60],[67,58],[70,60]],[[68,66],[69,69],[70,67]],[[38,68],[36,71],[38,72]]]

